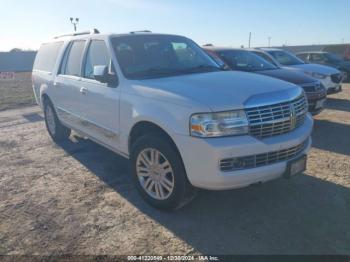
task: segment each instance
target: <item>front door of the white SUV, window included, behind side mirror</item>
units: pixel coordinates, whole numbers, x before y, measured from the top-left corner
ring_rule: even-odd
[[[106,42],[92,39],[86,49],[80,89],[82,109],[81,117],[86,120],[87,133],[104,144],[117,147],[119,133],[119,91],[118,83],[101,83],[94,79],[94,66],[107,66],[108,72],[116,72],[111,53]]]

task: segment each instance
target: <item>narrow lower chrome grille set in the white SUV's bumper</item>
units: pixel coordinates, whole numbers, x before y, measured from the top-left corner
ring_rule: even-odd
[[[221,171],[234,171],[274,164],[297,157],[306,147],[307,140],[287,149],[272,151],[258,155],[227,158],[220,161]]]

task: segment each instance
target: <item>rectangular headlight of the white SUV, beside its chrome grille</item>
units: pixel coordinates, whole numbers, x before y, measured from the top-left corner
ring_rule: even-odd
[[[248,133],[248,119],[243,110],[194,114],[190,120],[191,136],[219,137]]]

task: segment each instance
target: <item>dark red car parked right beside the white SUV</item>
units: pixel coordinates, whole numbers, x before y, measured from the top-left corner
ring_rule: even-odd
[[[205,47],[204,50],[214,58],[219,65],[231,70],[252,72],[271,76],[302,87],[309,103],[309,112],[318,114],[324,109],[327,90],[320,81],[301,72],[283,69],[266,61],[254,52],[246,49]]]

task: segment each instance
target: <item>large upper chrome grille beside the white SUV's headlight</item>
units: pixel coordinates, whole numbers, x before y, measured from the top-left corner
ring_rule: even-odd
[[[307,110],[304,95],[288,102],[247,108],[249,133],[257,138],[288,133],[304,123]]]

